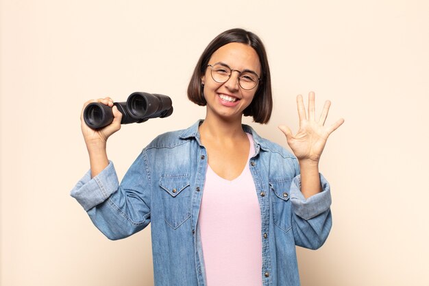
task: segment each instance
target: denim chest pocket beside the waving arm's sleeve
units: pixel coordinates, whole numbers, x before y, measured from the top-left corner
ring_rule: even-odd
[[[273,208],[274,224],[287,232],[292,226],[291,201],[289,200],[292,178],[272,180],[269,182],[271,188],[271,208]]]

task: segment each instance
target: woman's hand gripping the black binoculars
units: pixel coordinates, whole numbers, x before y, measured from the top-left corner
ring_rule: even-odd
[[[108,126],[101,128],[99,130],[94,130],[86,125],[84,121],[84,110],[86,106],[88,106],[88,104],[92,102],[99,102],[101,104],[106,104],[107,106],[112,107],[112,112],[114,116],[112,123],[110,123]],[[112,135],[114,132],[117,132],[119,129],[121,129],[121,119],[122,119],[122,113],[119,112],[118,108],[113,105],[113,100],[110,97],[93,99],[93,100],[89,100],[88,102],[85,102],[84,108],[82,108],[82,113],[80,115],[80,121],[81,121],[82,134],[84,135],[86,146],[87,147],[100,146],[100,145],[106,146],[106,141],[109,138],[109,136]]]

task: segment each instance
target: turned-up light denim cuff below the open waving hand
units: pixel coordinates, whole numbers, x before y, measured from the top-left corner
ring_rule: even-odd
[[[312,219],[321,213],[328,211],[332,199],[330,185],[325,177],[319,173],[322,191],[312,195],[310,198],[304,198],[301,192],[301,175],[296,176],[291,184],[291,202],[293,211],[303,219]]]

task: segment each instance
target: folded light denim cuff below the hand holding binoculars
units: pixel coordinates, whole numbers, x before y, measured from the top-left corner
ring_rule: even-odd
[[[94,178],[91,179],[91,171],[87,171],[71,190],[70,195],[85,211],[88,211],[107,200],[118,187],[118,176],[112,161],[109,160],[109,165]]]

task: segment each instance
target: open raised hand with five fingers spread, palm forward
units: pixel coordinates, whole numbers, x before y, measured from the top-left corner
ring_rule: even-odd
[[[299,162],[308,161],[311,163],[319,163],[321,153],[326,145],[328,136],[343,124],[344,119],[339,119],[331,126],[326,127],[325,121],[328,117],[330,101],[326,101],[319,120],[315,119],[315,93],[308,93],[308,115],[304,106],[302,95],[297,95],[297,108],[299,115],[299,130],[293,135],[291,129],[287,126],[279,126],[286,140],[291,147],[293,154]]]

